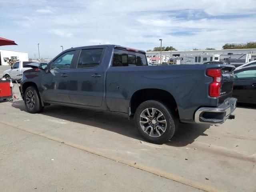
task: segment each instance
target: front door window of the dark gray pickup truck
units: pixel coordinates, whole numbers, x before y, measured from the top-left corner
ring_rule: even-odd
[[[54,62],[52,62],[52,67],[51,69],[69,69],[72,59],[74,57],[75,51],[69,51],[61,56],[59,56]]]

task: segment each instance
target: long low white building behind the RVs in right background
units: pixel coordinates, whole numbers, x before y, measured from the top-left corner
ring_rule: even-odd
[[[223,49],[223,50],[184,50],[184,51],[162,51],[162,62],[165,62],[171,56],[192,56],[192,55],[210,55],[210,54],[256,54],[255,49]],[[160,51],[146,52],[147,58],[154,56],[160,57]],[[168,60],[168,59],[167,59]],[[254,59],[252,59],[254,60]]]

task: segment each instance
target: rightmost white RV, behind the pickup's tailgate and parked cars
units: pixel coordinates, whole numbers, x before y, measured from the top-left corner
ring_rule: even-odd
[[[220,55],[220,61],[224,62],[224,64],[231,64],[236,67],[243,65],[247,62],[250,62],[252,59],[251,54],[228,54],[228,55]]]

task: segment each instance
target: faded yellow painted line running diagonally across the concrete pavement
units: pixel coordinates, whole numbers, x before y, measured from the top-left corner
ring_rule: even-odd
[[[162,170],[158,170],[156,168],[149,167],[149,166],[146,166],[146,165],[143,165],[143,164],[139,164],[139,163],[135,164],[134,162],[132,162],[130,160],[126,160],[126,159],[119,158],[117,156],[112,156],[112,155],[109,155],[109,154],[105,154],[105,153],[102,153],[100,151],[94,150],[92,148],[88,148],[86,146],[81,146],[81,145],[78,145],[78,144],[74,144],[72,142],[64,141],[64,140],[62,140],[60,138],[49,136],[47,134],[44,134],[44,133],[41,133],[41,132],[38,132],[38,131],[22,128],[20,126],[16,126],[16,125],[10,124],[8,122],[0,121],[0,123],[4,124],[4,125],[7,125],[7,126],[10,126],[10,127],[13,127],[13,128],[16,128],[18,130],[22,130],[22,131],[26,131],[26,132],[31,133],[31,134],[42,136],[44,138],[47,138],[49,140],[53,140],[53,141],[56,141],[56,142],[59,142],[59,143],[63,143],[64,142],[63,144],[65,144],[67,146],[71,146],[71,147],[83,150],[85,152],[89,152],[91,154],[94,154],[94,155],[97,155],[97,156],[100,156],[100,157],[103,157],[103,158],[106,158],[106,159],[109,159],[109,160],[113,160],[113,161],[116,161],[118,163],[121,163],[121,164],[124,164],[124,165],[128,165],[128,166],[131,166],[131,167],[134,167],[134,168],[137,168],[137,169],[149,172],[151,174],[154,174],[154,175],[157,175],[157,176],[161,176],[161,177],[164,177],[164,178],[172,180],[172,181],[179,182],[179,183],[187,185],[187,186],[191,186],[191,187],[196,188],[196,189],[200,189],[200,190],[203,190],[203,191],[206,191],[206,192],[221,192],[222,191],[220,189],[213,188],[211,186],[206,186],[204,184],[200,184],[198,182],[194,182],[192,180],[188,180],[188,179],[186,179],[184,177],[181,177],[181,176],[177,176],[177,175],[174,175],[174,174],[171,174],[171,173],[167,173],[167,172],[164,172]]]

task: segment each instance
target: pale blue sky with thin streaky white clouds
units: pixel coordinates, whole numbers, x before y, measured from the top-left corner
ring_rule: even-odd
[[[65,49],[118,44],[221,49],[256,41],[256,0],[0,0],[0,37],[30,58]]]

